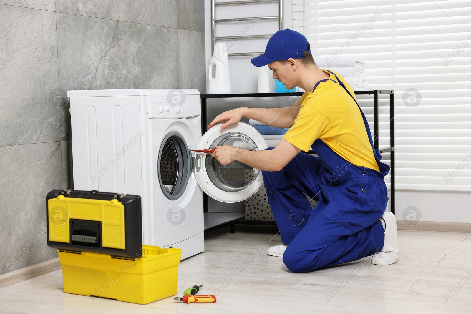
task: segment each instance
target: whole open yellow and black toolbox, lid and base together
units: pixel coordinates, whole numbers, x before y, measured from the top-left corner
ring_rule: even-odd
[[[138,304],[177,294],[182,250],[142,245],[140,196],[52,190],[46,204],[65,292]]]

